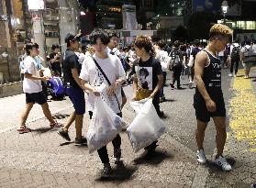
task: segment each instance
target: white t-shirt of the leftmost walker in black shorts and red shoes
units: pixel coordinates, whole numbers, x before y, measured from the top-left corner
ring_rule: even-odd
[[[24,60],[24,72],[34,76],[40,76],[39,70],[36,67],[36,61],[31,56],[27,56]],[[23,92],[28,94],[39,93],[42,91],[42,84],[40,80],[31,80],[24,78]]]

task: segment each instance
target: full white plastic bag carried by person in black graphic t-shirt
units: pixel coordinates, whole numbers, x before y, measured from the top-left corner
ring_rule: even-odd
[[[130,105],[139,112],[127,129],[131,146],[134,152],[138,152],[168,132],[169,128],[157,115],[152,99],[133,101]]]

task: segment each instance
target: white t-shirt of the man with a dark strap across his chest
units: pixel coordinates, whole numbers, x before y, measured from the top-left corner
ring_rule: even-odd
[[[125,78],[126,73],[122,67],[121,61],[115,55],[108,54],[108,58],[103,60],[99,59],[94,55],[95,61],[99,64],[103,72],[105,72],[106,77],[110,81],[110,83],[115,83],[117,79],[120,77]],[[95,65],[95,61],[91,57],[86,57],[83,61],[82,70],[80,73],[80,78],[86,82],[89,82],[94,87],[100,87],[103,83],[109,86],[106,82],[104,75],[98,70]],[[117,99],[114,96],[109,97],[106,92],[103,92],[101,97],[106,104],[110,106],[110,108],[117,114],[120,112],[118,103],[121,105],[122,96],[121,96],[121,87],[117,89],[116,92]],[[118,100],[118,103],[117,103]],[[88,94],[88,110],[94,111],[95,108],[95,94]]]

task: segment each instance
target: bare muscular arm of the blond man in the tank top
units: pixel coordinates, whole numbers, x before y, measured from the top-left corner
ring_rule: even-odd
[[[195,57],[195,83],[198,88],[199,93],[203,96],[206,101],[206,108],[209,112],[216,111],[216,104],[211,99],[206,91],[206,85],[203,82],[204,68],[209,63],[208,56],[205,51],[200,51]]]

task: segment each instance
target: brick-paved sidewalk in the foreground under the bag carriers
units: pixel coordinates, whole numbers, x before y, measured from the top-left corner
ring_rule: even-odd
[[[71,111],[69,108],[61,114]],[[128,122],[133,116],[124,109]],[[86,115],[84,134],[88,122]],[[149,158],[143,151],[135,154],[127,134],[121,133],[124,166],[116,166],[112,159],[113,177],[101,180],[102,164],[96,152],[89,155],[87,147],[65,142],[44,118],[28,127],[34,131],[23,135],[15,129],[0,133],[0,187],[205,187],[207,170],[197,167],[195,154],[168,135],[159,140],[155,156]],[[74,125],[70,135],[73,139]],[[111,144],[108,151],[112,156]]]

